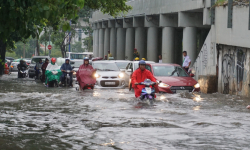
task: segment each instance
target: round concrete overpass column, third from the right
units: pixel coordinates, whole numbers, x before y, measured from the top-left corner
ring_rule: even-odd
[[[147,60],[158,62],[158,28],[148,28]]]

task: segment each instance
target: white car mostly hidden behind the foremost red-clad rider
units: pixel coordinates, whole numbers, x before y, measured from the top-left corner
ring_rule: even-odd
[[[146,64],[153,64],[153,61],[146,61]],[[129,86],[132,73],[139,68],[139,61],[130,62],[125,69],[125,85]]]

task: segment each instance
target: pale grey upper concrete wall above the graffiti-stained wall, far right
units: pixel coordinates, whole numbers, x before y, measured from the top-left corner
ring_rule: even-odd
[[[227,28],[228,7],[216,7],[216,43],[250,48],[249,7],[233,7],[233,27]]]

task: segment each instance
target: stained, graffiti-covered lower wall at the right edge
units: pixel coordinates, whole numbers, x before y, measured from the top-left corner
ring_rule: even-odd
[[[250,96],[250,49],[220,46],[218,91]]]

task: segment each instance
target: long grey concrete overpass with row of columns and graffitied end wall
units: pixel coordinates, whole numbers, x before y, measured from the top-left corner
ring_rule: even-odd
[[[133,9],[116,18],[96,11],[91,19],[94,55],[104,57],[110,50],[116,59],[132,60],[137,48],[141,58],[158,62],[162,54],[163,62],[181,65],[185,50],[203,92],[250,96],[249,61],[237,58],[250,56],[249,7],[211,7],[215,2],[132,0],[127,4]],[[227,56],[234,58],[231,66]]]

